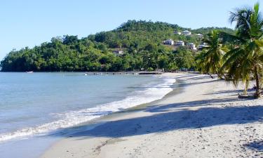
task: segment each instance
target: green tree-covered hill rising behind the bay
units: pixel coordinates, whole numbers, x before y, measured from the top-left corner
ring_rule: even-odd
[[[192,33],[191,36],[175,34],[186,29]],[[234,32],[228,28],[189,29],[166,22],[129,20],[112,31],[91,34],[82,39],[65,35],[34,48],[13,50],[0,66],[3,72],[190,69],[195,67],[196,52],[186,47],[175,50],[174,46],[163,45],[163,41],[182,40],[198,46],[201,39],[195,34],[207,34],[212,29]]]

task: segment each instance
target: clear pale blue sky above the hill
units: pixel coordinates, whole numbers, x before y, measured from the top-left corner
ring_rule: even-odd
[[[14,48],[32,48],[65,34],[109,31],[127,20],[182,27],[231,27],[229,11],[263,0],[0,0],[0,60]]]

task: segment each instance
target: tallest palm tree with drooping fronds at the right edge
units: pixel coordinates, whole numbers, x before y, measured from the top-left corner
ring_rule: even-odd
[[[238,8],[231,12],[230,22],[236,22],[236,35],[221,33],[223,41],[231,41],[233,48],[224,55],[221,70],[228,70],[227,79],[237,86],[245,82],[245,93],[250,79],[256,81],[255,98],[260,96],[260,77],[263,61],[263,19],[259,4],[253,8]]]

